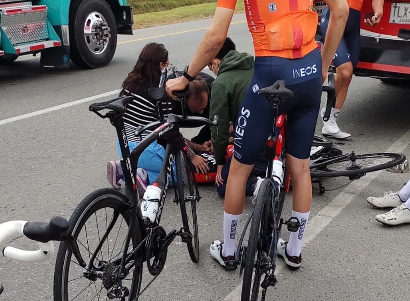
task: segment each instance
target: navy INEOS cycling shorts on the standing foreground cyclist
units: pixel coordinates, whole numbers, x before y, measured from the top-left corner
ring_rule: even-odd
[[[301,59],[256,57],[255,69],[234,127],[234,157],[243,164],[254,164],[272,131],[272,103],[261,88],[276,80],[284,80],[294,97],[278,106],[278,113],[288,113],[286,152],[298,159],[307,159],[319,113],[322,94],[322,60],[318,49]]]

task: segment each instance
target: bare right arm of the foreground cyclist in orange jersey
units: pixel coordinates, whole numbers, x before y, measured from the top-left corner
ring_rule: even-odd
[[[327,28],[325,44],[322,50],[322,75],[326,79],[330,63],[339,47],[345,31],[349,15],[349,5],[346,0],[325,0],[330,9],[330,19]]]

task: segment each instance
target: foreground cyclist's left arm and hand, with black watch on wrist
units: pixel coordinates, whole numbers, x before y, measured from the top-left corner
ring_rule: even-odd
[[[213,58],[215,58],[222,48],[222,45],[228,35],[229,25],[234,15],[235,4],[236,0],[218,1],[211,25],[202,37],[195,55],[189,63],[187,73],[190,76],[196,76]],[[224,7],[222,5],[224,5]],[[170,97],[174,97],[172,91],[183,90],[188,83],[188,79],[184,76],[167,80],[166,88],[168,95]]]

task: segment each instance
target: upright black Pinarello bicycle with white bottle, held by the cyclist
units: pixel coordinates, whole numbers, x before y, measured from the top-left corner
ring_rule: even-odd
[[[175,73],[178,73],[174,69]],[[178,73],[179,75],[179,73]],[[149,89],[157,100],[158,112],[162,112],[161,100],[165,95],[164,83],[167,69],[162,70],[159,87]],[[99,117],[108,118],[116,127],[122,158],[120,160],[125,177],[125,186],[119,190],[102,188],[86,196],[69,219],[72,236],[78,241],[81,253],[88,254],[86,266],[78,265],[71,258],[65,243],[61,243],[56,259],[54,277],[54,300],[100,300],[102,296],[121,301],[137,301],[164,268],[168,247],[179,236],[187,244],[193,262],[199,259],[198,224],[196,203],[200,196],[194,178],[193,167],[185,152],[185,143],[179,132],[179,121],[201,121],[217,125],[217,117],[208,120],[186,116],[183,91],[177,96],[181,100],[182,116],[171,114],[136,130],[136,135],[148,129],[153,131],[130,151],[124,131],[122,115],[132,97],[120,97],[89,106]],[[100,111],[108,110],[103,114]],[[142,217],[140,199],[136,189],[136,166],[145,148],[158,138],[167,141],[165,160],[157,179],[161,197],[156,219],[150,223]],[[173,172],[176,166],[176,179]],[[166,233],[160,226],[161,215],[169,182],[174,183],[174,203],[179,204],[182,224],[180,230]],[[101,222],[99,222],[101,221]],[[117,243],[117,241],[119,241]],[[153,279],[141,289],[142,267],[146,261]],[[80,283],[77,285],[77,283]],[[82,284],[82,286],[81,286]],[[81,286],[81,287],[80,287]],[[69,298],[70,297],[70,298]]]

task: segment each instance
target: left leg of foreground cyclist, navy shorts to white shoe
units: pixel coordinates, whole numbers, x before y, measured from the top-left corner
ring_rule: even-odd
[[[273,124],[272,105],[265,97],[257,94],[258,86],[266,87],[275,81],[270,74],[271,62],[264,59],[255,60],[253,78],[234,125],[234,158],[225,191],[224,242],[213,241],[210,248],[211,255],[226,269],[236,268],[230,261],[234,259],[246,182]]]

